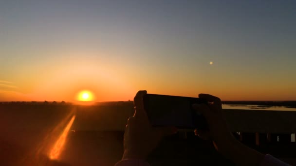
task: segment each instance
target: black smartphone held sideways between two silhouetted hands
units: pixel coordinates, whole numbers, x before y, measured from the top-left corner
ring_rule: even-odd
[[[192,108],[192,104],[207,103],[206,100],[146,94],[143,97],[143,101],[145,111],[152,126],[175,126],[179,129],[207,129],[204,116]]]

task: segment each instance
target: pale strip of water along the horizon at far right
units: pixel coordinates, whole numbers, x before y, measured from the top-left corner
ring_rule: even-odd
[[[240,105],[240,104],[222,104],[223,109],[239,109],[239,110],[266,110],[266,111],[296,111],[296,108],[288,108],[283,106],[269,105]]]

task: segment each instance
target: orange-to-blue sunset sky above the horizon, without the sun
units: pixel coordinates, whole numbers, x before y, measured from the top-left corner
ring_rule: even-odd
[[[0,101],[296,100],[295,0],[0,0]]]

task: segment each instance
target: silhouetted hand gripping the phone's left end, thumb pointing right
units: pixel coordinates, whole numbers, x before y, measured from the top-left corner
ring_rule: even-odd
[[[177,132],[175,127],[152,127],[144,110],[143,96],[139,91],[134,97],[135,113],[129,117],[124,133],[124,154],[122,159],[145,160],[165,135]]]

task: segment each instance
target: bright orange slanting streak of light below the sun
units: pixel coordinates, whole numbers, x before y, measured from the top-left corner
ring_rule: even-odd
[[[60,153],[62,152],[62,149],[63,149],[64,144],[66,142],[67,135],[69,133],[69,130],[71,129],[71,126],[72,126],[74,120],[75,120],[75,116],[72,116],[70,122],[67,124],[67,126],[64,129],[63,133],[56,140],[56,143],[55,143],[53,149],[51,149],[50,154],[49,154],[49,158],[51,160],[57,160],[58,159]]]

